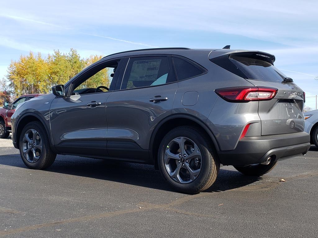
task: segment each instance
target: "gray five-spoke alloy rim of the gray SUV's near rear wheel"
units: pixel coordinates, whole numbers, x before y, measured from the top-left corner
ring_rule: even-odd
[[[166,147],[164,165],[174,181],[193,182],[198,177],[202,166],[199,147],[187,137],[173,139]]]

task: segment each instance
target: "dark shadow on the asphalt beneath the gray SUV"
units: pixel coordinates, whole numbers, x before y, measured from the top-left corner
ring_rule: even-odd
[[[0,155],[0,164],[27,168],[19,154]],[[58,155],[56,161],[46,171],[174,191],[152,165]],[[244,176],[238,171],[220,169],[216,182],[207,192],[240,188],[258,180],[261,178]]]

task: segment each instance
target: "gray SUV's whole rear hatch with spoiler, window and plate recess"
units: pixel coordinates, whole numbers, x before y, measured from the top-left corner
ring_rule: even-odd
[[[257,87],[278,89],[273,99],[259,101],[258,113],[261,119],[262,135],[304,130],[305,120],[302,113],[304,92],[273,66],[275,60],[273,55],[258,51],[241,51],[210,60]]]

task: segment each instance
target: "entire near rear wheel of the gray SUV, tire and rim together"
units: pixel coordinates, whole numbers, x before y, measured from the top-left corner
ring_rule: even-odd
[[[172,129],[163,137],[158,165],[163,178],[174,189],[187,194],[211,187],[220,168],[211,139],[188,126]]]

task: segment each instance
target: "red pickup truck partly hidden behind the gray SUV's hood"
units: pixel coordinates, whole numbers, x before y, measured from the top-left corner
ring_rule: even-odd
[[[18,97],[12,104],[4,102],[3,108],[0,108],[0,138],[7,138],[9,136],[11,131],[11,116],[17,108],[17,105],[41,95],[43,94],[26,94]]]

